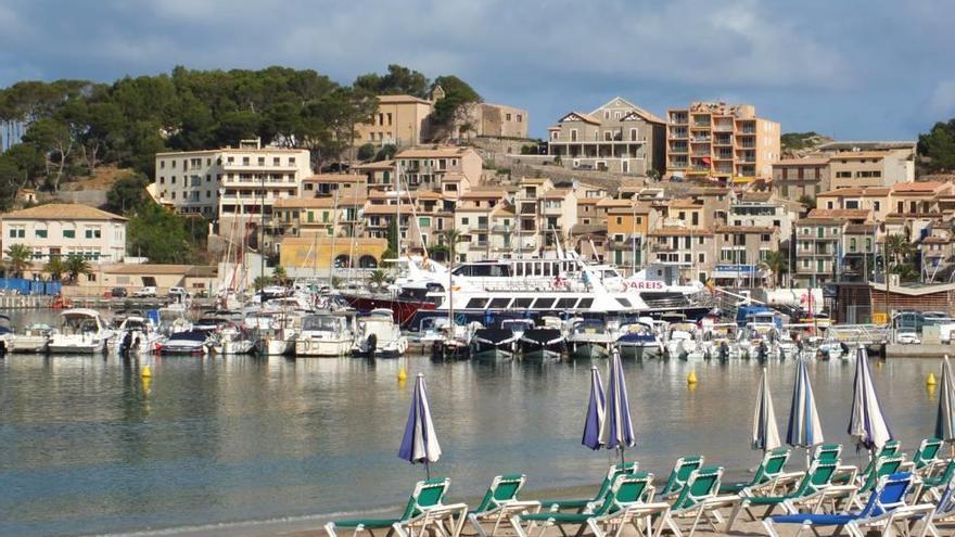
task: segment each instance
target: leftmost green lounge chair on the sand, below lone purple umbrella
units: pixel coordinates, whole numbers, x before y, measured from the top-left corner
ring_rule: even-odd
[[[419,481],[415,490],[405,506],[405,511],[398,519],[353,519],[329,522],[324,530],[329,537],[338,537],[336,529],[342,527],[353,528],[352,535],[361,532],[374,535],[374,529],[384,529],[385,533],[396,533],[399,537],[413,537],[423,535],[428,529],[437,532],[441,537],[458,537],[464,525],[464,516],[468,506],[453,503],[445,506],[444,497],[450,487],[451,481],[447,477],[434,477]],[[446,524],[449,525],[446,526]]]

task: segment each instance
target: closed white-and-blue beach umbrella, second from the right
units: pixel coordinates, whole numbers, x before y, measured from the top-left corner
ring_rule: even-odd
[[[852,383],[852,413],[849,417],[849,436],[856,446],[870,451],[892,439],[892,432],[882,414],[882,405],[873,384],[873,369],[868,353],[860,345],[855,360],[855,380]]]

